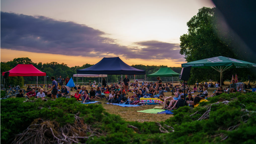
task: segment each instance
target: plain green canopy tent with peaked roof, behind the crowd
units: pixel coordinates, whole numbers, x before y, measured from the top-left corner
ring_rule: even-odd
[[[166,77],[172,77],[173,76],[179,76],[180,74],[176,73],[175,71],[173,71],[170,68],[160,68],[158,71],[156,71],[155,73],[152,74],[147,74],[147,76],[166,76]]]

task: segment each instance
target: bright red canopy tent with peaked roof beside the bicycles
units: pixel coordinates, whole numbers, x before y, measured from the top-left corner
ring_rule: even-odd
[[[32,64],[18,64],[13,69],[9,70],[9,76],[46,76],[45,72],[39,71],[37,68],[34,67]],[[3,72],[2,76],[4,75]],[[45,82],[45,77],[44,77]],[[36,80],[37,84],[37,80]]]

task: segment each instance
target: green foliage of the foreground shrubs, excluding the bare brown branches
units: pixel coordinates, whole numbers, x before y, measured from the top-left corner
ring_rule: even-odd
[[[38,118],[56,120],[60,126],[74,123],[74,114],[84,123],[105,133],[91,137],[88,143],[255,143],[256,93],[221,94],[208,98],[209,102],[198,107],[181,107],[174,110],[173,117],[159,122],[169,133],[162,133],[155,122],[138,123],[124,121],[119,115],[106,113],[101,105],[80,104],[76,99],[59,98],[47,102],[34,99],[34,103],[23,102],[24,98],[1,100],[1,141],[10,143],[15,134],[25,130]],[[222,104],[222,101],[230,101]],[[214,104],[220,101],[219,104]],[[209,118],[197,120],[211,105]],[[246,110],[252,112],[246,112]],[[196,114],[194,114],[197,112]],[[190,116],[194,114],[193,116]],[[132,125],[137,129],[132,129]],[[174,128],[167,127],[171,126]],[[234,130],[228,128],[236,126]],[[218,135],[228,136],[226,140]],[[9,141],[10,140],[10,141]]]

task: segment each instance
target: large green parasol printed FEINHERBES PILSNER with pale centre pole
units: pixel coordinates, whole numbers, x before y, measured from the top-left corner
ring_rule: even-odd
[[[220,72],[220,85],[221,85],[222,72],[227,69],[256,68],[255,63],[222,57],[222,56],[181,64],[181,67],[188,67],[188,66],[191,66],[192,68],[215,69],[216,71]]]

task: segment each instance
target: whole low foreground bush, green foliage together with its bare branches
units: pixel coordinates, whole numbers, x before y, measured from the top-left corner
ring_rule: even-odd
[[[5,99],[1,100],[1,142],[255,143],[255,93],[223,94],[208,100],[194,109],[174,110],[165,122],[138,123],[108,114],[99,104],[84,105],[72,98]]]

